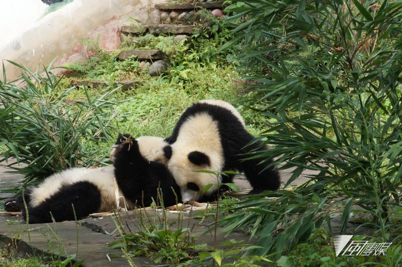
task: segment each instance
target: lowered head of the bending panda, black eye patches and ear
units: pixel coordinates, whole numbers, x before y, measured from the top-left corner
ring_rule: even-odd
[[[168,160],[168,169],[180,187],[183,202],[200,199],[203,196],[203,189],[209,184],[213,186],[204,192],[205,195],[211,195],[217,190],[217,183],[221,178],[214,173],[203,171],[218,169],[219,166],[214,166],[216,165],[214,162],[219,162],[219,159],[197,150],[180,153],[175,150],[174,144],[165,146],[163,152]]]

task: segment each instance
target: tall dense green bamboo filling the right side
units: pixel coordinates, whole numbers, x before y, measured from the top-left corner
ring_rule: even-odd
[[[248,77],[257,91],[250,105],[265,116],[262,137],[273,147],[250,156],[294,167],[286,186],[313,172],[293,192],[248,197],[227,229],[251,227],[258,253],[279,257],[340,207],[344,233],[357,205],[383,241],[400,234],[389,222],[402,204],[402,4],[252,0],[228,10],[237,27],[223,49],[240,46],[240,63],[259,66]]]

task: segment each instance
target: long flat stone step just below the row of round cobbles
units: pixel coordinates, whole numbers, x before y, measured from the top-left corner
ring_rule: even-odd
[[[150,34],[192,34],[195,29],[201,31],[202,28],[199,26],[190,25],[174,25],[174,24],[153,24],[153,25],[143,25],[144,32]],[[138,34],[138,27],[134,25],[123,25],[121,29],[122,33],[125,34]]]

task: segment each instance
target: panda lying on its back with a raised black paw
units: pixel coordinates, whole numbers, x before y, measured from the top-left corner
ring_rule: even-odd
[[[158,153],[165,145],[158,137],[141,137],[139,142],[128,135],[119,136],[111,152],[115,167],[67,169],[27,190],[24,198],[29,222],[51,222],[50,212],[55,221],[74,220],[72,204],[77,219],[94,212],[111,211],[120,196],[124,196],[129,207],[134,204],[149,206],[152,199],[157,201],[158,188],[161,188],[166,206],[175,204],[176,198],[181,199],[180,190],[167,170],[166,162],[153,161],[163,159]],[[27,219],[22,196],[6,201],[5,210],[22,211]]]

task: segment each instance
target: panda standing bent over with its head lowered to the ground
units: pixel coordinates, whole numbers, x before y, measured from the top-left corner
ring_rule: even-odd
[[[253,186],[251,194],[276,190],[280,177],[272,160],[247,159],[244,153],[266,146],[254,140],[245,128],[243,118],[229,103],[222,100],[204,100],[192,104],[178,119],[173,133],[165,139],[164,155],[167,167],[180,187],[182,201],[209,201],[216,199],[219,182],[230,182],[232,177],[197,170],[222,172],[243,171]],[[215,184],[203,194],[203,188]]]

